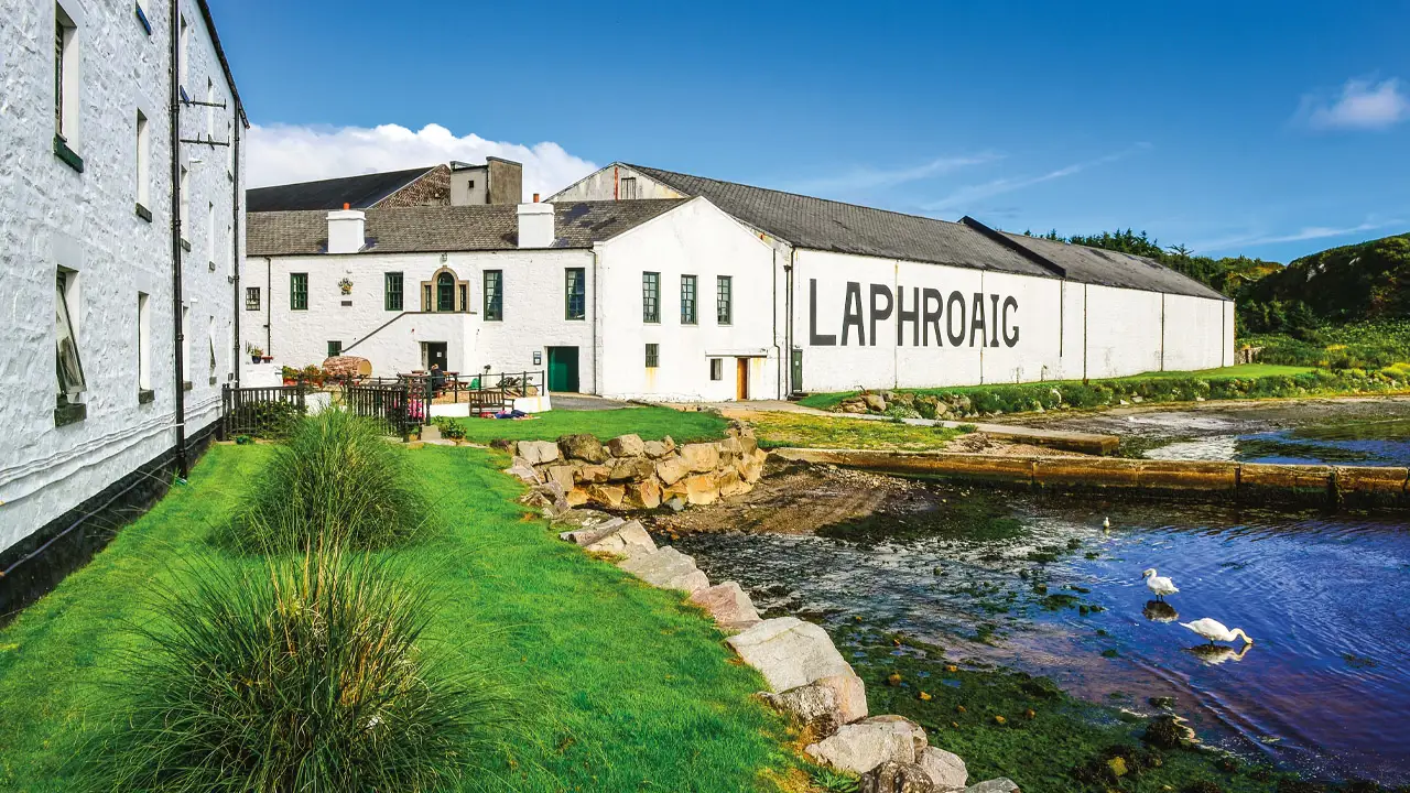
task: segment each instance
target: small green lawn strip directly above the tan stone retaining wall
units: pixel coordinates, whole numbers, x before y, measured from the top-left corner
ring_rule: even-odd
[[[716,413],[682,412],[673,408],[620,408],[616,411],[548,411],[536,419],[457,419],[465,437],[475,443],[509,440],[553,440],[563,435],[589,432],[602,440],[634,432],[642,440],[670,435],[677,442],[705,440],[725,435],[729,423]]]

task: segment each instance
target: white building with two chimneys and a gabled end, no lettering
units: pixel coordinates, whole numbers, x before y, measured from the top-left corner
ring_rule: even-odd
[[[550,392],[778,396],[774,251],[704,198],[250,214],[247,343],[302,368],[544,371]]]

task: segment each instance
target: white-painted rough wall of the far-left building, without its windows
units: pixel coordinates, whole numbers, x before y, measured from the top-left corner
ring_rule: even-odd
[[[144,3],[152,32],[127,3],[61,0],[78,23],[79,107],[75,172],[54,154],[54,3],[0,0],[0,272],[6,301],[0,323],[0,550],[96,495],[175,442],[172,368],[172,238],[169,25],[172,4]],[[217,99],[231,87],[193,1],[182,1],[190,24],[188,87],[204,99],[207,76]],[[147,209],[137,216],[137,113],[148,119]],[[216,110],[216,137],[226,137],[234,109]],[[182,137],[204,134],[204,110],[185,109]],[[202,159],[203,162],[193,162]],[[231,203],[227,150],[185,147],[190,169],[192,253],[183,262],[192,389],[186,392],[188,433],[216,418],[220,385],[233,374]],[[231,169],[233,171],[233,169]],[[216,206],[216,271],[203,220]],[[241,220],[241,226],[244,222]],[[78,272],[70,303],[87,392],[86,419],[54,426],[58,267]],[[138,292],[149,295],[151,385],[155,398],[138,404]],[[216,368],[209,367],[212,325]],[[210,377],[216,382],[210,382]]]

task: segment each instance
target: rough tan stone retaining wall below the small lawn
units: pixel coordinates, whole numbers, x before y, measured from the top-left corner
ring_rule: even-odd
[[[713,504],[753,490],[768,453],[752,429],[732,426],[723,440],[677,444],[670,437],[623,435],[602,443],[591,435],[520,440],[510,471],[530,484],[557,484],[568,505],[654,509],[663,504]]]

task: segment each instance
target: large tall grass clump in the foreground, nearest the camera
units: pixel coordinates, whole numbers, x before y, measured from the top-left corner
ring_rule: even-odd
[[[426,591],[384,563],[317,549],[185,579],[134,628],[94,787],[419,792],[491,772],[510,700],[423,646]]]

